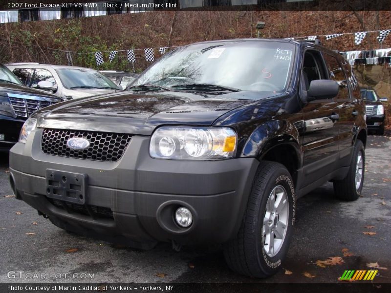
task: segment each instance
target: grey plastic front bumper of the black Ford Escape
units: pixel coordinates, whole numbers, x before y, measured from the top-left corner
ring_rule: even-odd
[[[26,145],[10,151],[17,196],[49,216],[57,226],[97,236],[123,237],[135,243],[175,240],[180,244],[224,243],[239,230],[255,172],[255,158],[220,161],[152,159],[149,137],[133,136],[117,162],[46,155],[42,129]],[[112,218],[94,218],[53,205],[46,197],[46,169],[88,175],[87,205],[109,208]],[[194,213],[188,228],[174,224],[172,210]]]

